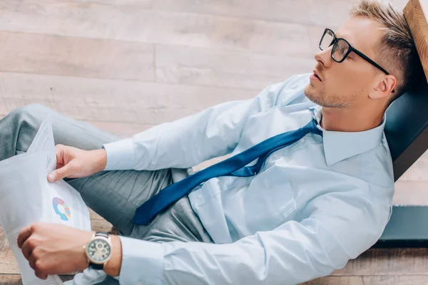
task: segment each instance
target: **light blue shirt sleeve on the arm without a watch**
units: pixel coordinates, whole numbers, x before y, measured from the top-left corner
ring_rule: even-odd
[[[107,153],[105,170],[188,168],[227,155],[238,145],[248,118],[272,108],[286,83],[265,88],[250,100],[221,103],[103,145]]]

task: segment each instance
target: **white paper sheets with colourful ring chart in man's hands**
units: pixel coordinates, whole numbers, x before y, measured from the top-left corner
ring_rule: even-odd
[[[19,231],[34,222],[65,224],[91,230],[88,208],[81,195],[63,180],[50,183],[47,175],[56,169],[54,134],[49,120],[39,128],[29,150],[0,161],[0,225],[27,284],[63,284],[58,276],[37,278],[19,249]]]

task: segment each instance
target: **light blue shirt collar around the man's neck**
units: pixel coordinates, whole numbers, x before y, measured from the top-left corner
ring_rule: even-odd
[[[376,128],[362,132],[336,132],[321,128],[320,121],[322,118],[322,107],[311,107],[312,116],[317,120],[317,128],[322,130],[324,144],[325,161],[327,166],[334,165],[336,162],[345,160],[354,155],[360,155],[374,147],[377,147],[383,138],[386,114],[382,124]]]

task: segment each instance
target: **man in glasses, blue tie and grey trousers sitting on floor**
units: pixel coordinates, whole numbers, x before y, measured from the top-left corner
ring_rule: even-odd
[[[311,75],[125,140],[40,105],[1,120],[6,159],[26,151],[51,113],[61,145],[48,180],[66,177],[122,234],[104,244],[111,256],[103,270],[88,270],[83,246],[93,232],[26,227],[18,244],[36,275],[85,269],[73,284],[298,284],[365,252],[389,221],[394,195],[384,112],[412,84],[417,51],[402,13],[372,1],[356,3],[339,30],[326,29],[320,48]],[[282,134],[286,146],[271,147]],[[176,195],[183,186],[158,196],[175,169],[230,152],[250,157],[247,150],[265,145],[248,167],[202,170],[194,175],[212,177],[188,195]],[[151,197],[157,202],[146,207]]]

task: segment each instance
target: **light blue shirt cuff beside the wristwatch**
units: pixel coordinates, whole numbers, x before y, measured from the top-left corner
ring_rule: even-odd
[[[161,244],[129,237],[119,237],[122,243],[122,265],[119,280],[122,285],[160,285],[163,274]]]

